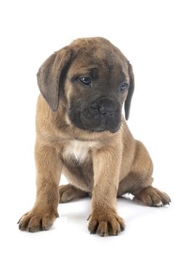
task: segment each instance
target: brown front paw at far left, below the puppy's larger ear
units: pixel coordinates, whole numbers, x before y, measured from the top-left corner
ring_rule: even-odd
[[[36,232],[39,230],[49,230],[52,223],[58,217],[57,211],[46,211],[46,209],[33,208],[20,218],[20,230]]]

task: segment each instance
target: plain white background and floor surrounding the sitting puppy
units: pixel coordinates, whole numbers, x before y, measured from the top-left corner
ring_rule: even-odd
[[[186,13],[180,0],[1,1],[1,255],[186,255]],[[60,205],[47,232],[21,232],[17,220],[35,200],[36,72],[53,51],[95,36],[132,63],[128,124],[154,160],[154,186],[172,204],[118,200],[127,229],[115,237],[89,235],[89,199]]]

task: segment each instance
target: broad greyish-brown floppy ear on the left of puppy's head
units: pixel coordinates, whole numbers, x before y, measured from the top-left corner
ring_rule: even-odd
[[[65,47],[49,56],[37,73],[39,90],[52,111],[57,110],[61,80],[60,75],[65,75],[70,59],[71,50]]]

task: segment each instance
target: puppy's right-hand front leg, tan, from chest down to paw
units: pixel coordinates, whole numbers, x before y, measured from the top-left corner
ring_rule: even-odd
[[[124,230],[124,221],[116,213],[116,192],[122,150],[103,148],[93,152],[94,187],[92,212],[89,216],[90,233],[100,236],[118,235]]]

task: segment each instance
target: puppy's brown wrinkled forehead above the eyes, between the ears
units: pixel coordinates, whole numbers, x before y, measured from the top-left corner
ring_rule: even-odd
[[[76,53],[68,75],[124,76],[128,80],[128,63],[125,57],[113,48],[82,48]]]

